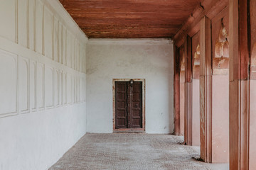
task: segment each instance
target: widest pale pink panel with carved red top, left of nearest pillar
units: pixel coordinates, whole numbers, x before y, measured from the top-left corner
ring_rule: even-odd
[[[212,48],[212,162],[229,161],[229,38],[228,8],[211,19]]]

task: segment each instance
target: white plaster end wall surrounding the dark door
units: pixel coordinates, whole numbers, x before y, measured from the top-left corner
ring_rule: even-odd
[[[87,132],[113,131],[112,79],[146,79],[146,132],[174,131],[170,40],[99,40],[87,44]]]

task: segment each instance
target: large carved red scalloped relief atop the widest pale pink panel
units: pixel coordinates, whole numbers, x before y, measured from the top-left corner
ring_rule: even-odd
[[[213,74],[228,74],[228,8],[212,20]]]

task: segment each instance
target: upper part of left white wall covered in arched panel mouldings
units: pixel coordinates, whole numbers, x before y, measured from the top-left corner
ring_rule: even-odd
[[[87,37],[73,20],[69,21],[71,18],[59,7],[60,2],[4,0],[2,3],[0,77],[6,88],[1,88],[5,89],[1,101],[8,104],[1,105],[0,118],[84,102],[85,94],[80,91],[85,93],[82,86]],[[61,14],[69,19],[64,20]],[[9,16],[8,21],[4,16]]]

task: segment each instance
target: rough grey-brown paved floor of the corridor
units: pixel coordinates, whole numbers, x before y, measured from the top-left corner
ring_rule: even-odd
[[[179,145],[183,137],[147,134],[87,134],[50,170],[177,169],[227,170],[228,164],[206,164],[199,147]]]

